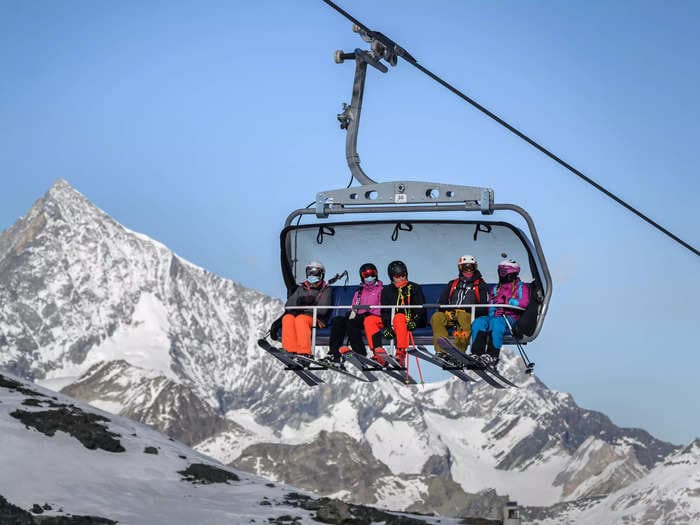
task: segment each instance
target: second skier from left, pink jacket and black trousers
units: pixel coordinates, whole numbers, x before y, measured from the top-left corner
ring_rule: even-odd
[[[353,295],[351,304],[353,306],[379,305],[383,287],[382,281],[377,279],[377,267],[372,263],[363,264],[360,266],[360,288]],[[382,328],[382,318],[378,308],[352,309],[347,315],[334,317],[331,321],[329,352],[326,359],[340,364],[342,362],[341,354],[350,349],[355,353],[367,355],[362,341],[363,328],[371,350],[381,345],[379,331]],[[350,348],[341,347],[346,336]]]

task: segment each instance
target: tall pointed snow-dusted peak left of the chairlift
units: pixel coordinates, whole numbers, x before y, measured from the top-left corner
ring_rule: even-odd
[[[248,364],[279,307],[124,228],[63,180],[0,235],[0,351],[27,377],[124,358],[207,397],[241,379],[230,365]]]

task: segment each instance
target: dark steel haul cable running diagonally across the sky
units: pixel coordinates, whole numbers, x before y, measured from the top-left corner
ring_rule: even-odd
[[[420,72],[424,73],[425,75],[427,75],[428,77],[433,79],[435,82],[437,82],[441,86],[445,87],[446,89],[448,89],[449,91],[451,91],[452,93],[457,95],[459,98],[461,98],[462,100],[464,100],[468,104],[471,104],[474,108],[478,109],[479,111],[481,111],[483,114],[485,114],[489,118],[498,122],[501,126],[506,128],[508,131],[510,131],[511,133],[513,133],[514,135],[519,137],[520,139],[522,139],[525,142],[527,142],[528,144],[530,144],[532,147],[534,147],[535,149],[537,149],[538,151],[540,151],[541,153],[543,153],[544,155],[546,155],[547,157],[552,159],[554,162],[563,166],[568,171],[570,171],[571,173],[573,173],[574,175],[579,177],[581,180],[587,182],[588,184],[593,186],[595,189],[597,189],[598,191],[600,191],[601,193],[603,193],[607,197],[614,200],[620,206],[622,206],[625,209],[627,209],[628,211],[634,213],[637,217],[639,217],[640,219],[645,221],[650,226],[656,228],[658,231],[660,231],[664,235],[670,237],[672,240],[674,240],[675,242],[677,242],[678,244],[680,244],[684,248],[690,250],[695,255],[700,256],[700,250],[698,250],[697,248],[692,246],[690,243],[684,241],[683,239],[681,239],[680,237],[678,237],[677,235],[675,235],[674,233],[672,233],[668,229],[664,228],[663,226],[658,224],[656,221],[654,221],[653,219],[648,217],[646,214],[637,210],[634,206],[632,206],[631,204],[628,204],[623,199],[621,199],[620,197],[618,197],[617,195],[615,195],[614,193],[612,193],[611,191],[606,189],[601,184],[597,183],[596,181],[594,181],[590,177],[584,175],[581,171],[574,168],[571,164],[564,161],[559,156],[555,155],[554,153],[549,151],[547,148],[545,148],[544,146],[542,146],[541,144],[539,144],[538,142],[536,142],[535,140],[533,140],[532,138],[527,136],[525,133],[523,133],[522,131],[517,129],[515,126],[512,126],[511,124],[509,124],[508,122],[503,120],[501,117],[499,117],[498,115],[496,115],[492,111],[488,110],[486,107],[479,104],[476,100],[474,100],[471,97],[462,93],[460,90],[458,90],[457,88],[452,86],[449,82],[446,82],[445,80],[443,80],[442,78],[437,76],[435,73],[430,71],[428,68],[419,64],[418,61],[411,54],[409,54],[403,47],[398,45],[396,42],[394,42],[393,40],[391,40],[390,38],[388,38],[387,36],[383,35],[382,33],[378,32],[378,31],[372,31],[371,29],[369,29],[367,26],[362,24],[356,18],[352,17],[349,13],[344,11],[341,7],[336,5],[331,0],[323,0],[323,2],[325,4],[327,4],[328,6],[330,6],[331,8],[333,8],[338,13],[340,13],[342,16],[344,16],[345,18],[350,20],[355,25],[355,27],[353,29],[355,29],[358,33],[360,33],[360,36],[362,37],[363,40],[365,40],[366,42],[370,42],[372,44],[373,51],[376,47],[376,49],[377,49],[377,51],[375,51],[376,56],[379,56],[380,58],[386,60],[392,66],[396,65],[397,57],[403,58],[409,64],[411,64],[413,67],[418,69]],[[356,139],[357,139],[357,137],[355,137],[355,140]],[[359,163],[359,160],[358,160],[358,163]],[[351,167],[351,170],[352,170],[352,167]],[[353,172],[353,175],[354,175],[354,172]],[[358,180],[360,180],[360,179],[358,179]]]

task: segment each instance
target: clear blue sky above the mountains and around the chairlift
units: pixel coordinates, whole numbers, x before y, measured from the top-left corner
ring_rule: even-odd
[[[700,245],[700,4],[343,4],[423,65]],[[364,44],[320,1],[0,3],[0,229],[61,177],[182,257],[283,295],[278,232],[347,184]],[[528,350],[550,387],[675,443],[700,435],[700,260],[407,64],[367,80],[377,181],[489,186],[555,280]]]

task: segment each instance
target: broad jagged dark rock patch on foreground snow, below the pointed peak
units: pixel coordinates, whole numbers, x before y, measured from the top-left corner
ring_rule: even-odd
[[[10,414],[27,427],[33,427],[47,436],[53,436],[57,430],[70,434],[90,450],[102,449],[107,452],[124,452],[124,447],[117,437],[99,421],[109,419],[98,414],[83,412],[77,407],[61,407],[57,410],[26,412],[15,410]]]

